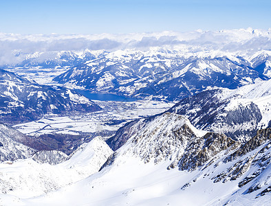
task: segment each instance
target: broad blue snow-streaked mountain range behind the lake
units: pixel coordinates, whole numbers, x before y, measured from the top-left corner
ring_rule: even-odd
[[[268,52],[246,60],[228,52],[119,50],[89,60],[54,78],[92,93],[180,100],[207,87],[236,89],[270,78]],[[267,55],[267,56],[266,56]],[[267,65],[260,69],[259,65]]]

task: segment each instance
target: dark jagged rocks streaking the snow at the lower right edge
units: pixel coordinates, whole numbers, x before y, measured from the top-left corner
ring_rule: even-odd
[[[235,181],[248,172],[251,167],[255,167],[257,170],[252,170],[252,172],[246,174],[246,177],[239,182],[238,186],[243,187],[250,183],[250,181],[257,179],[260,174],[265,172],[271,163],[271,141],[269,141],[269,139],[270,128],[257,131],[257,135],[247,141],[246,144],[239,146],[235,152],[224,157],[223,162],[232,162],[232,165],[230,165],[226,171],[217,174],[217,176],[213,176],[212,179],[214,182],[226,182],[228,180]],[[260,186],[254,185],[248,189],[248,192],[258,190],[258,187]]]

